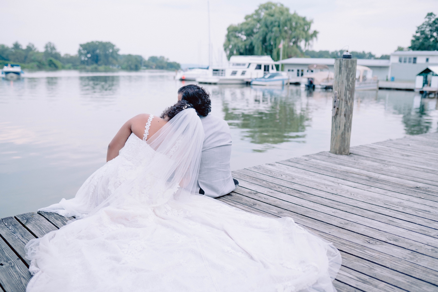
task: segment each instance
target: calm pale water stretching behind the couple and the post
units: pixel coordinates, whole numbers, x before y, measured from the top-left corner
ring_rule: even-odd
[[[173,73],[28,73],[0,80],[0,218],[74,197],[120,126],[177,100]],[[206,85],[233,136],[232,169],[327,151],[332,92]],[[437,131],[436,99],[356,93],[351,145]]]

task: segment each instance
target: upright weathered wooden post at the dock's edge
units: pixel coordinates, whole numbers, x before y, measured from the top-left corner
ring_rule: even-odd
[[[332,139],[330,152],[350,154],[351,120],[357,59],[336,59],[333,82]]]

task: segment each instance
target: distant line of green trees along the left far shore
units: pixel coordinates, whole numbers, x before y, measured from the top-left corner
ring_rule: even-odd
[[[89,71],[160,69],[179,70],[180,64],[164,56],[122,55],[111,42],[87,42],[79,45],[76,55],[61,55],[52,42],[47,42],[40,52],[32,43],[25,48],[19,42],[11,47],[0,44],[0,66],[18,63],[28,70],[78,69]]]

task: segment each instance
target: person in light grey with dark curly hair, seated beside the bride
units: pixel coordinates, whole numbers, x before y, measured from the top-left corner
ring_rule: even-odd
[[[204,88],[189,84],[178,90],[178,100],[181,99],[194,105],[200,102],[205,103],[205,99],[209,101],[210,95]],[[196,192],[215,198],[231,193],[239,184],[231,176],[230,127],[228,127],[226,121],[211,114],[200,116],[200,118],[204,127],[205,138],[202,145]]]

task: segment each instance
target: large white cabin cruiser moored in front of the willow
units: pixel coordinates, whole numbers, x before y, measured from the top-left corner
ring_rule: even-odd
[[[228,67],[212,67],[208,76],[196,78],[198,83],[246,84],[254,78],[277,72],[271,56],[231,56]]]

